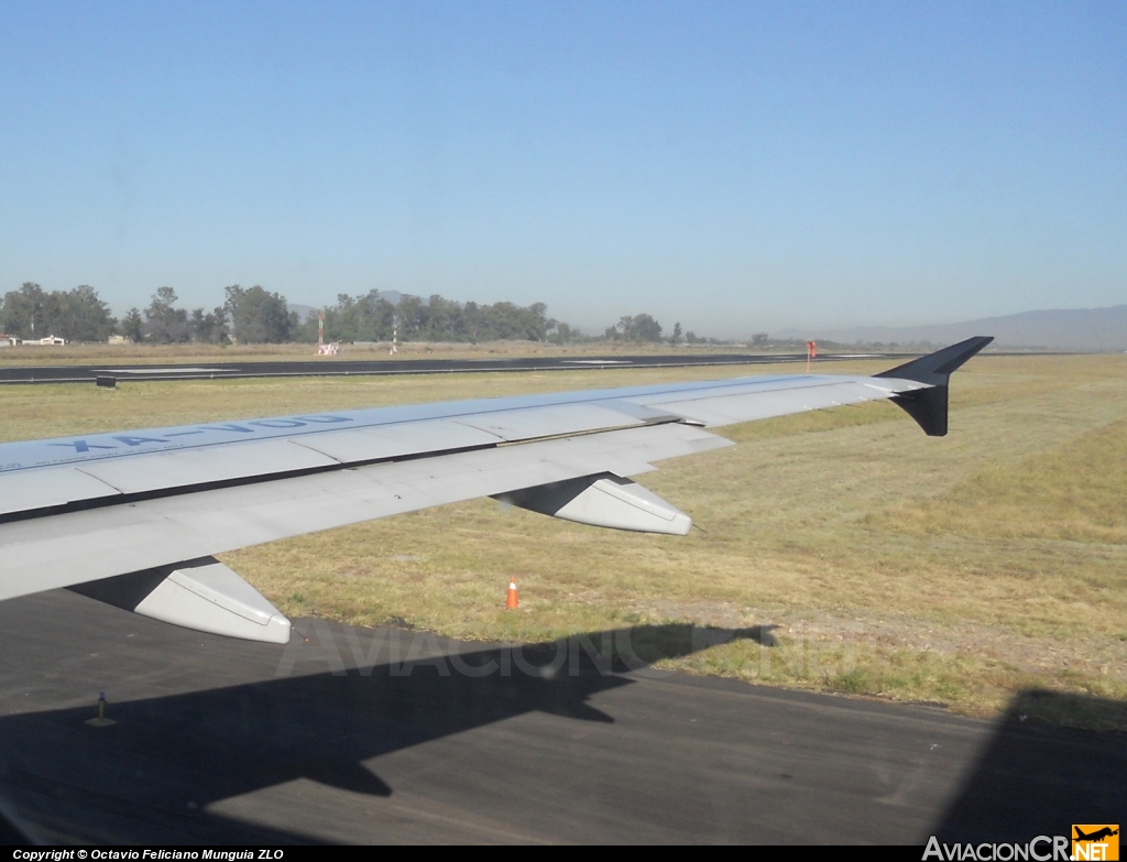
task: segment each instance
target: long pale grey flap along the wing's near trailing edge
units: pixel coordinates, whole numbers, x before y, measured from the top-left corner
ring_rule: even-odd
[[[654,425],[16,521],[0,524],[0,599],[729,445]]]

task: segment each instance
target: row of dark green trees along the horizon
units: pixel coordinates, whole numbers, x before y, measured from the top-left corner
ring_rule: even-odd
[[[121,335],[134,344],[285,344],[312,343],[318,338],[316,313],[302,320],[292,311],[286,299],[260,285],[224,288],[224,301],[208,310],[189,311],[177,303],[172,287],[159,287],[144,309],[130,309],[124,318],[115,319],[109,306],[89,285],[72,291],[44,291],[34,282],[25,282],[18,291],[9,291],[0,303],[0,331],[21,339],[59,336],[69,341],[105,341]],[[615,340],[658,343],[682,340],[681,323],[672,335],[663,336],[662,325],[650,314],[623,317],[609,327],[602,337],[589,337],[579,330],[548,317],[542,302],[517,305],[495,302],[455,302],[438,294],[397,295],[391,302],[379,291],[350,296],[341,293],[335,305],[325,312],[325,338],[330,341],[496,341],[526,340],[570,344],[576,341]],[[693,332],[684,335],[693,344],[708,339]]]

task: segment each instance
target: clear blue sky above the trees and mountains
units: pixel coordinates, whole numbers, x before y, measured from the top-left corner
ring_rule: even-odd
[[[0,0],[0,291],[1127,302],[1127,5]]]

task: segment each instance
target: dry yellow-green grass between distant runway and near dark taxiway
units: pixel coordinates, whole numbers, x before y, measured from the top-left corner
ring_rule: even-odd
[[[7,386],[0,397],[3,438],[24,439],[778,372]],[[653,655],[691,673],[974,714],[1029,688],[1095,695],[1075,701],[1095,704],[1083,712],[1045,718],[1127,729],[1125,432],[1127,356],[983,356],[952,379],[948,437],[868,405],[719,429],[740,445],[660,464],[641,479],[693,516],[700,528],[686,537],[479,500],[223,559],[295,616],[524,642],[669,622],[773,625],[775,648],[737,638],[682,658],[668,656],[687,649],[654,645]],[[516,612],[503,610],[511,576]]]

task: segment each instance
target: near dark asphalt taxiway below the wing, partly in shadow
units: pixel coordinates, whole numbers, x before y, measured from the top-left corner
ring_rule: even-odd
[[[38,841],[211,844],[1026,842],[1127,810],[1124,735],[1024,722],[1035,694],[990,722],[658,673],[637,630],[605,661],[596,638],[296,629],[0,603],[0,807]],[[99,692],[110,727],[85,723]]]

